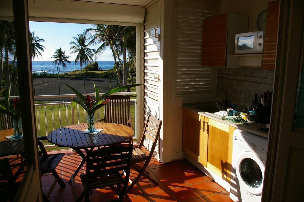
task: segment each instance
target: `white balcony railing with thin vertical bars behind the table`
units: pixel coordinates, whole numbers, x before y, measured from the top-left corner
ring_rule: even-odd
[[[100,93],[102,95],[104,93]],[[87,94],[83,94],[86,96]],[[95,94],[88,94],[89,96],[95,96]],[[136,95],[136,92],[122,92],[122,93],[114,93],[112,95]],[[15,99],[19,96],[11,97],[11,99]],[[51,98],[52,100],[58,98],[73,98],[77,97],[75,94],[63,94],[63,95],[36,95],[34,96],[35,100],[39,99],[47,99]],[[5,97],[0,97],[0,100],[4,100]],[[130,117],[133,118],[133,124],[136,128],[136,99],[131,99],[131,107],[130,107]],[[134,104],[132,104],[134,103]],[[39,103],[35,104],[35,112],[36,112],[36,129],[38,136],[48,135],[49,132],[61,128],[62,126],[73,125],[78,123],[86,123],[86,112],[85,110],[79,106],[75,105],[73,108],[71,107],[72,102],[52,102],[52,103]],[[134,106],[134,114],[133,114],[133,106]],[[63,109],[65,108],[65,110]],[[97,110],[97,117],[95,114],[95,119],[103,118],[103,108]],[[5,116],[6,126],[7,124],[7,116]],[[134,133],[136,134],[136,133]],[[134,136],[135,137],[135,136]],[[44,143],[46,146],[54,146],[50,145],[49,142]]]

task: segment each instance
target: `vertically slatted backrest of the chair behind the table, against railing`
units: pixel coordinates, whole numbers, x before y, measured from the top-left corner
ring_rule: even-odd
[[[130,119],[130,95],[109,95],[105,105],[105,122],[127,125]]]

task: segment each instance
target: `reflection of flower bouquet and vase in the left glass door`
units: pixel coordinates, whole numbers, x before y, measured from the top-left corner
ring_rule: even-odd
[[[13,118],[14,124],[14,137],[22,137],[22,122],[21,122],[21,107],[20,100],[16,97],[13,101],[10,100],[11,87],[7,89],[5,94],[4,103],[0,103],[0,113],[9,115]]]

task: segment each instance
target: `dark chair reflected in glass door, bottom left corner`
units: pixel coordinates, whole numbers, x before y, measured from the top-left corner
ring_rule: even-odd
[[[0,201],[14,200],[20,184],[16,182],[18,176],[13,175],[8,158],[0,160]]]

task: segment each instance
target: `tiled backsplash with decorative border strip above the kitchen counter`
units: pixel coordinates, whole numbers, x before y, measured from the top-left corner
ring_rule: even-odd
[[[260,98],[264,91],[272,92],[273,70],[255,68],[218,68],[216,82],[216,96],[226,98],[232,102],[240,102],[241,94],[245,93],[245,101],[252,105],[254,94]]]

